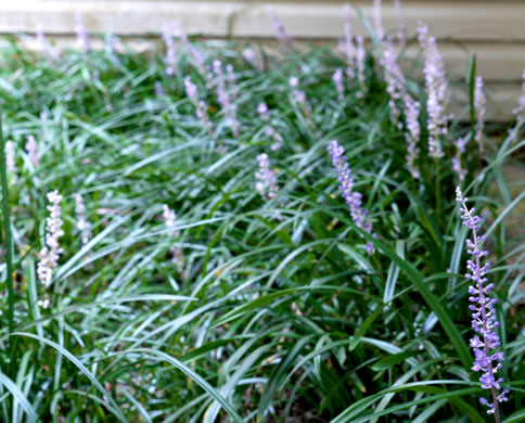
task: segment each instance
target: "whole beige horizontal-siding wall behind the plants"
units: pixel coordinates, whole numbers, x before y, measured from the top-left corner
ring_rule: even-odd
[[[271,39],[273,29],[266,4],[272,4],[287,30],[298,40],[332,42],[343,34],[343,5],[347,1],[197,1],[197,0],[2,0],[0,33],[34,34],[41,25],[57,43],[74,42],[75,14],[80,12],[93,33],[113,31],[145,38],[142,47],[158,42],[164,23],[177,21],[192,35]],[[372,18],[372,0],[354,2]],[[430,26],[439,40],[450,75],[463,79],[471,53],[477,55],[477,73],[486,80],[491,100],[489,118],[504,120],[521,94],[525,67],[525,1],[520,0],[406,0],[408,36],[418,21]],[[390,0],[383,0],[383,23],[397,31],[398,18]],[[366,35],[355,17],[356,34]],[[414,54],[415,49],[408,54]]]

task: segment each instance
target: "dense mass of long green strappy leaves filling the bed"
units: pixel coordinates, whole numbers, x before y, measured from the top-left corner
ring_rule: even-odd
[[[414,117],[397,104],[390,119],[376,53],[361,53],[340,99],[332,76],[348,57],[328,48],[296,51],[286,40],[287,53],[271,55],[182,41],[168,73],[162,55],[114,49],[60,61],[15,42],[0,52],[3,134],[17,169],[8,181],[0,157],[10,290],[0,303],[1,420],[483,421],[451,161],[472,128],[453,124],[434,159],[422,112],[415,178],[406,159]],[[261,55],[248,61],[246,49]],[[233,69],[221,92],[235,129],[203,74],[215,60]],[[424,104],[420,81],[406,78],[404,94]],[[502,143],[462,155],[462,187],[491,221],[508,422],[524,406],[524,252],[508,248],[504,217],[524,195],[510,197],[501,167],[522,138],[518,123]],[[377,238],[337,192],[331,140],[346,150]],[[279,188],[266,197],[256,189],[261,154],[265,180]],[[494,183],[501,201],[487,195]],[[43,286],[36,262],[53,190],[63,254]],[[177,214],[169,225],[166,210]]]

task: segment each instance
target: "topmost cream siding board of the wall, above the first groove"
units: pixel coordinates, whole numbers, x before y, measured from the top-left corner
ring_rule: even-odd
[[[273,4],[290,33],[297,38],[335,38],[343,28],[345,1],[166,1],[166,0],[8,0],[0,2],[1,33],[30,33],[38,23],[48,33],[67,34],[74,14],[81,12],[95,31],[155,35],[163,22],[178,21],[188,34],[270,37],[266,4]],[[371,17],[372,1],[353,2]],[[383,2],[386,30],[397,27],[392,2]],[[439,39],[460,41],[524,41],[525,2],[520,1],[405,1],[405,21],[413,34],[426,22]],[[356,18],[356,33],[364,28]]]

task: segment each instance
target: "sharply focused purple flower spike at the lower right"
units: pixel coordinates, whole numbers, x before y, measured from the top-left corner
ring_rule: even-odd
[[[488,256],[487,251],[481,249],[486,236],[477,234],[482,219],[474,215],[474,208],[469,209],[466,207],[469,198],[463,197],[459,187],[456,189],[456,201],[461,204],[461,220],[463,220],[463,225],[472,231],[472,240],[466,240],[466,253],[473,259],[466,261],[469,273],[465,274],[465,278],[472,281],[472,285],[469,286],[469,302],[471,303],[469,308],[473,311],[472,328],[476,332],[476,335],[470,341],[475,356],[472,370],[483,372],[483,375],[479,377],[482,388],[490,390],[492,400],[488,401],[482,398],[481,402],[488,407],[487,413],[495,414],[496,421],[499,422],[498,405],[508,400],[507,394],[509,389],[504,388],[503,392],[498,393],[501,389],[503,379],[497,379],[496,373],[502,368],[503,364],[501,362],[504,361],[504,356],[501,351],[494,351],[501,344],[499,336],[495,332],[499,326],[494,307],[496,298],[488,296],[495,284],[487,283],[488,279],[485,278],[490,268],[490,262],[487,261],[482,266],[482,258]]]

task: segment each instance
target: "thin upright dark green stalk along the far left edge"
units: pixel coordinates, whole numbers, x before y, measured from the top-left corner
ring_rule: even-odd
[[[2,215],[3,215],[3,231],[5,245],[5,264],[7,264],[7,281],[9,295],[9,333],[14,332],[14,286],[13,286],[13,240],[11,238],[11,222],[9,213],[9,189],[8,189],[8,171],[5,166],[5,142],[2,133],[2,114],[0,113],[0,179],[2,183]],[[10,343],[13,346],[12,343]]]

